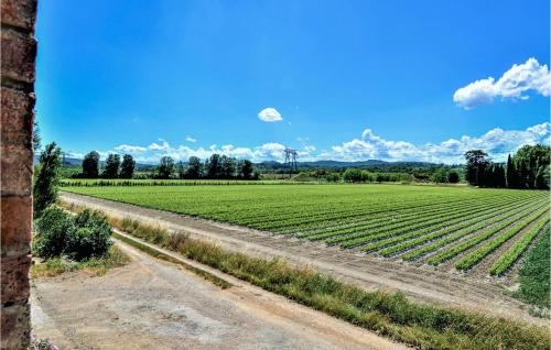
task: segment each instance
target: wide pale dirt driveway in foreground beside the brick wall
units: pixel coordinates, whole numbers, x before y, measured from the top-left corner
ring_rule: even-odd
[[[220,289],[117,243],[131,262],[104,276],[39,278],[32,325],[61,349],[406,349],[230,276]],[[222,274],[222,273],[220,273]]]

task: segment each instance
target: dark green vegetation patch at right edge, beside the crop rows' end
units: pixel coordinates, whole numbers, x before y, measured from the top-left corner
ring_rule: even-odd
[[[529,251],[528,256],[519,271],[519,289],[516,297],[534,305],[537,308],[551,308],[550,276],[551,276],[551,229],[547,228],[539,241]],[[541,313],[536,313],[541,314]]]

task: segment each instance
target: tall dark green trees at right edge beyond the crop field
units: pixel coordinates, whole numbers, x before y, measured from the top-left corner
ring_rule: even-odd
[[[549,189],[551,147],[525,145],[507,164],[493,163],[482,150],[465,153],[465,179],[474,186],[489,188]]]

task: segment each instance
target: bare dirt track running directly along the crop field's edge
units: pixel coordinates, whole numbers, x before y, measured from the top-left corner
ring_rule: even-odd
[[[369,289],[401,291],[420,302],[468,308],[547,326],[544,319],[530,316],[525,304],[505,295],[504,287],[493,280],[465,277],[429,265],[415,266],[401,261],[374,258],[269,232],[106,199],[69,193],[63,193],[62,199],[99,209],[112,216],[133,218],[162,225],[172,230],[185,231],[194,237],[212,240],[231,251],[260,256],[280,256],[292,263],[310,264]]]

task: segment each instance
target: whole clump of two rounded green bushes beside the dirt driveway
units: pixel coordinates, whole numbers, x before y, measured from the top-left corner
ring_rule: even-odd
[[[36,220],[33,253],[44,259],[68,255],[76,261],[104,256],[111,245],[111,226],[104,215],[84,210],[72,217],[48,207]]]

